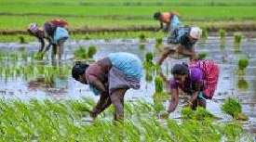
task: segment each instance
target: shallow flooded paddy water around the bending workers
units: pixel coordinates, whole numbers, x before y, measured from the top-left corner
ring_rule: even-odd
[[[255,46],[256,39],[243,39],[240,52],[237,53],[233,44],[233,37],[226,37],[225,45],[222,46],[220,38],[209,37],[207,41],[200,41],[199,44],[195,45],[195,50],[197,53],[207,53],[208,57],[214,59],[221,68],[220,80],[218,88],[215,92],[215,96],[212,100],[208,100],[207,109],[214,113],[215,115],[222,117],[224,122],[231,121],[232,119],[223,114],[221,110],[222,102],[226,97],[236,97],[242,103],[243,111],[249,116],[248,122],[243,122],[244,128],[249,132],[250,135],[256,136],[256,54]],[[166,41],[164,40],[164,43]],[[96,45],[98,46],[98,52],[94,56],[94,59],[105,57],[107,54],[117,51],[126,51],[138,55],[143,59],[144,54],[147,51],[155,52],[155,40],[148,39],[144,48],[140,48],[139,40],[136,39],[113,39],[113,40],[77,40],[68,41],[65,44],[65,55],[63,60],[59,62],[52,62],[51,60],[45,58],[44,64],[46,66],[57,66],[66,67],[72,66],[73,52],[80,46]],[[20,47],[25,47],[25,51],[28,53],[37,51],[39,46],[37,42],[29,43],[26,45],[19,44],[0,44],[2,51],[12,51],[19,53]],[[50,55],[48,55],[50,57]],[[158,54],[155,53],[155,60],[157,60]],[[237,61],[239,58],[249,58],[249,67],[244,75],[237,74]],[[173,59],[168,58],[162,66],[163,72],[170,77],[169,70],[170,67],[182,61],[188,61],[188,58],[183,59]],[[14,66],[11,62],[7,60],[1,61],[1,66]],[[24,64],[24,62],[19,61],[18,65]],[[32,64],[29,61],[27,64]],[[34,64],[42,64],[36,62]],[[2,73],[2,72],[1,72]],[[89,91],[88,86],[84,84],[79,84],[75,82],[71,75],[60,76],[55,75],[52,80],[54,84],[41,84],[41,76],[44,74],[36,74],[26,78],[24,76],[19,77],[6,77],[2,75],[0,78],[0,95],[1,97],[19,97],[20,99],[28,99],[30,97],[36,97],[38,99],[46,97],[55,98],[74,98],[79,99],[80,97],[94,97]],[[144,78],[141,79],[141,89],[140,90],[129,90],[126,98],[129,100],[145,99],[146,101],[153,101],[153,94],[155,92],[155,84],[153,82],[146,82]],[[168,105],[168,100],[164,102]],[[182,102],[179,104],[178,109],[171,114],[171,117],[177,118],[180,115],[180,110]]]

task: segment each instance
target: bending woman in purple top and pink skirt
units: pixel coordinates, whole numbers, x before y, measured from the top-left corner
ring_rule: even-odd
[[[179,102],[179,89],[191,95],[187,105],[193,110],[197,106],[206,108],[206,100],[211,99],[216,90],[220,69],[213,60],[197,60],[187,64],[175,64],[171,69],[171,101],[167,114],[174,111]],[[163,114],[166,115],[166,114]]]

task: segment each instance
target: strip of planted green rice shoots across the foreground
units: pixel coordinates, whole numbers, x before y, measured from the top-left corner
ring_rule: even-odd
[[[188,120],[162,123],[155,118],[156,106],[136,101],[125,103],[126,121],[113,124],[113,108],[93,123],[83,122],[95,102],[80,100],[0,100],[1,141],[221,141],[249,138],[237,123],[218,124]],[[132,114],[132,115],[131,115]],[[142,117],[141,117],[142,116]],[[135,123],[136,122],[136,123]],[[101,132],[101,136],[99,133]]]

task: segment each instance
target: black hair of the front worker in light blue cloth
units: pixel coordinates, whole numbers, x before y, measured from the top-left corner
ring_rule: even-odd
[[[89,65],[87,63],[84,63],[82,61],[76,61],[72,69],[72,77],[75,80],[78,80],[79,75],[83,75],[88,69],[88,66]]]

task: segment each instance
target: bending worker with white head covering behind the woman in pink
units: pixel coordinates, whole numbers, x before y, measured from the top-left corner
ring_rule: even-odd
[[[198,27],[181,27],[174,31],[174,36],[170,38],[170,46],[166,48],[164,53],[158,60],[158,64],[168,58],[169,55],[177,53],[177,57],[189,57],[190,60],[196,59],[194,45],[201,35],[201,30]]]

